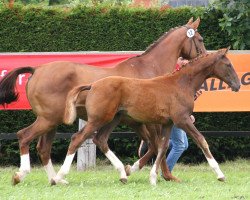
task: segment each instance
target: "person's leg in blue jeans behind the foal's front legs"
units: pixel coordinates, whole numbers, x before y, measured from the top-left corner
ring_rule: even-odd
[[[188,148],[188,139],[186,133],[176,126],[173,126],[170,138],[170,152],[166,162],[169,170],[172,171],[181,154]]]

